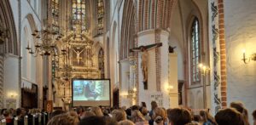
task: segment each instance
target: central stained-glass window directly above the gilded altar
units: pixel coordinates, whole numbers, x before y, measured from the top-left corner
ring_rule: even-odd
[[[76,25],[79,24],[82,31],[86,30],[86,18],[85,18],[85,0],[73,0],[73,31],[76,29]]]

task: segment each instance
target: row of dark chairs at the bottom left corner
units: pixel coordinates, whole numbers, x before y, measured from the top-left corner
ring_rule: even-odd
[[[22,120],[18,117],[2,119],[0,125],[46,125],[48,120],[48,113],[38,113],[38,115],[24,116]]]

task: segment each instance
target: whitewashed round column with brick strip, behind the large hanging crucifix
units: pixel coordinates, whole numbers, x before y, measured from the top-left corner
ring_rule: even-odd
[[[154,99],[160,106],[168,108],[169,92],[168,80],[168,31],[152,29],[137,33],[138,46],[162,43],[162,47],[148,50],[148,89],[143,88],[143,74],[141,67],[141,53],[138,54],[138,104],[150,102]]]

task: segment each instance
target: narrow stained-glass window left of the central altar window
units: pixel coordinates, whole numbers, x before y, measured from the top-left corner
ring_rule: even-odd
[[[52,15],[52,28],[54,31],[59,31],[59,0],[51,0],[51,15]]]

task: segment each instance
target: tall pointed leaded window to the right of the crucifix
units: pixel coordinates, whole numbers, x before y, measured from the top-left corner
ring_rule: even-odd
[[[191,31],[191,70],[192,70],[192,83],[200,82],[200,32],[199,21],[197,18],[193,21]]]

